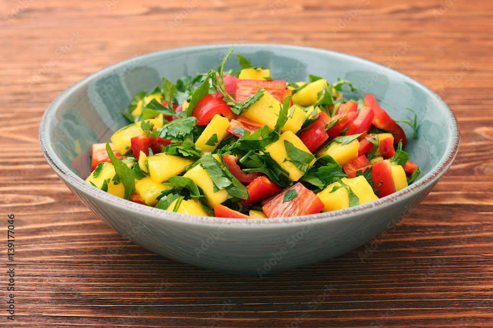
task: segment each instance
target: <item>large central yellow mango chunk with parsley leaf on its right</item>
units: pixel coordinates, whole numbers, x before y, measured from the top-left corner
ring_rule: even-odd
[[[310,153],[310,150],[308,150],[308,148],[305,146],[305,144],[303,144],[300,138],[298,138],[291,131],[286,131],[282,133],[278,141],[268,145],[265,148],[265,151],[269,152],[272,159],[275,160],[284,170],[289,172],[288,178],[291,181],[297,181],[298,179],[303,177],[305,173],[300,169],[298,169],[296,165],[294,165],[293,163],[289,161],[284,161],[286,158],[290,159],[288,158],[286,153],[286,148],[284,147],[284,140],[289,141],[297,149],[303,150],[308,153]],[[314,163],[315,163],[315,159],[309,164],[308,168],[311,168]]]

